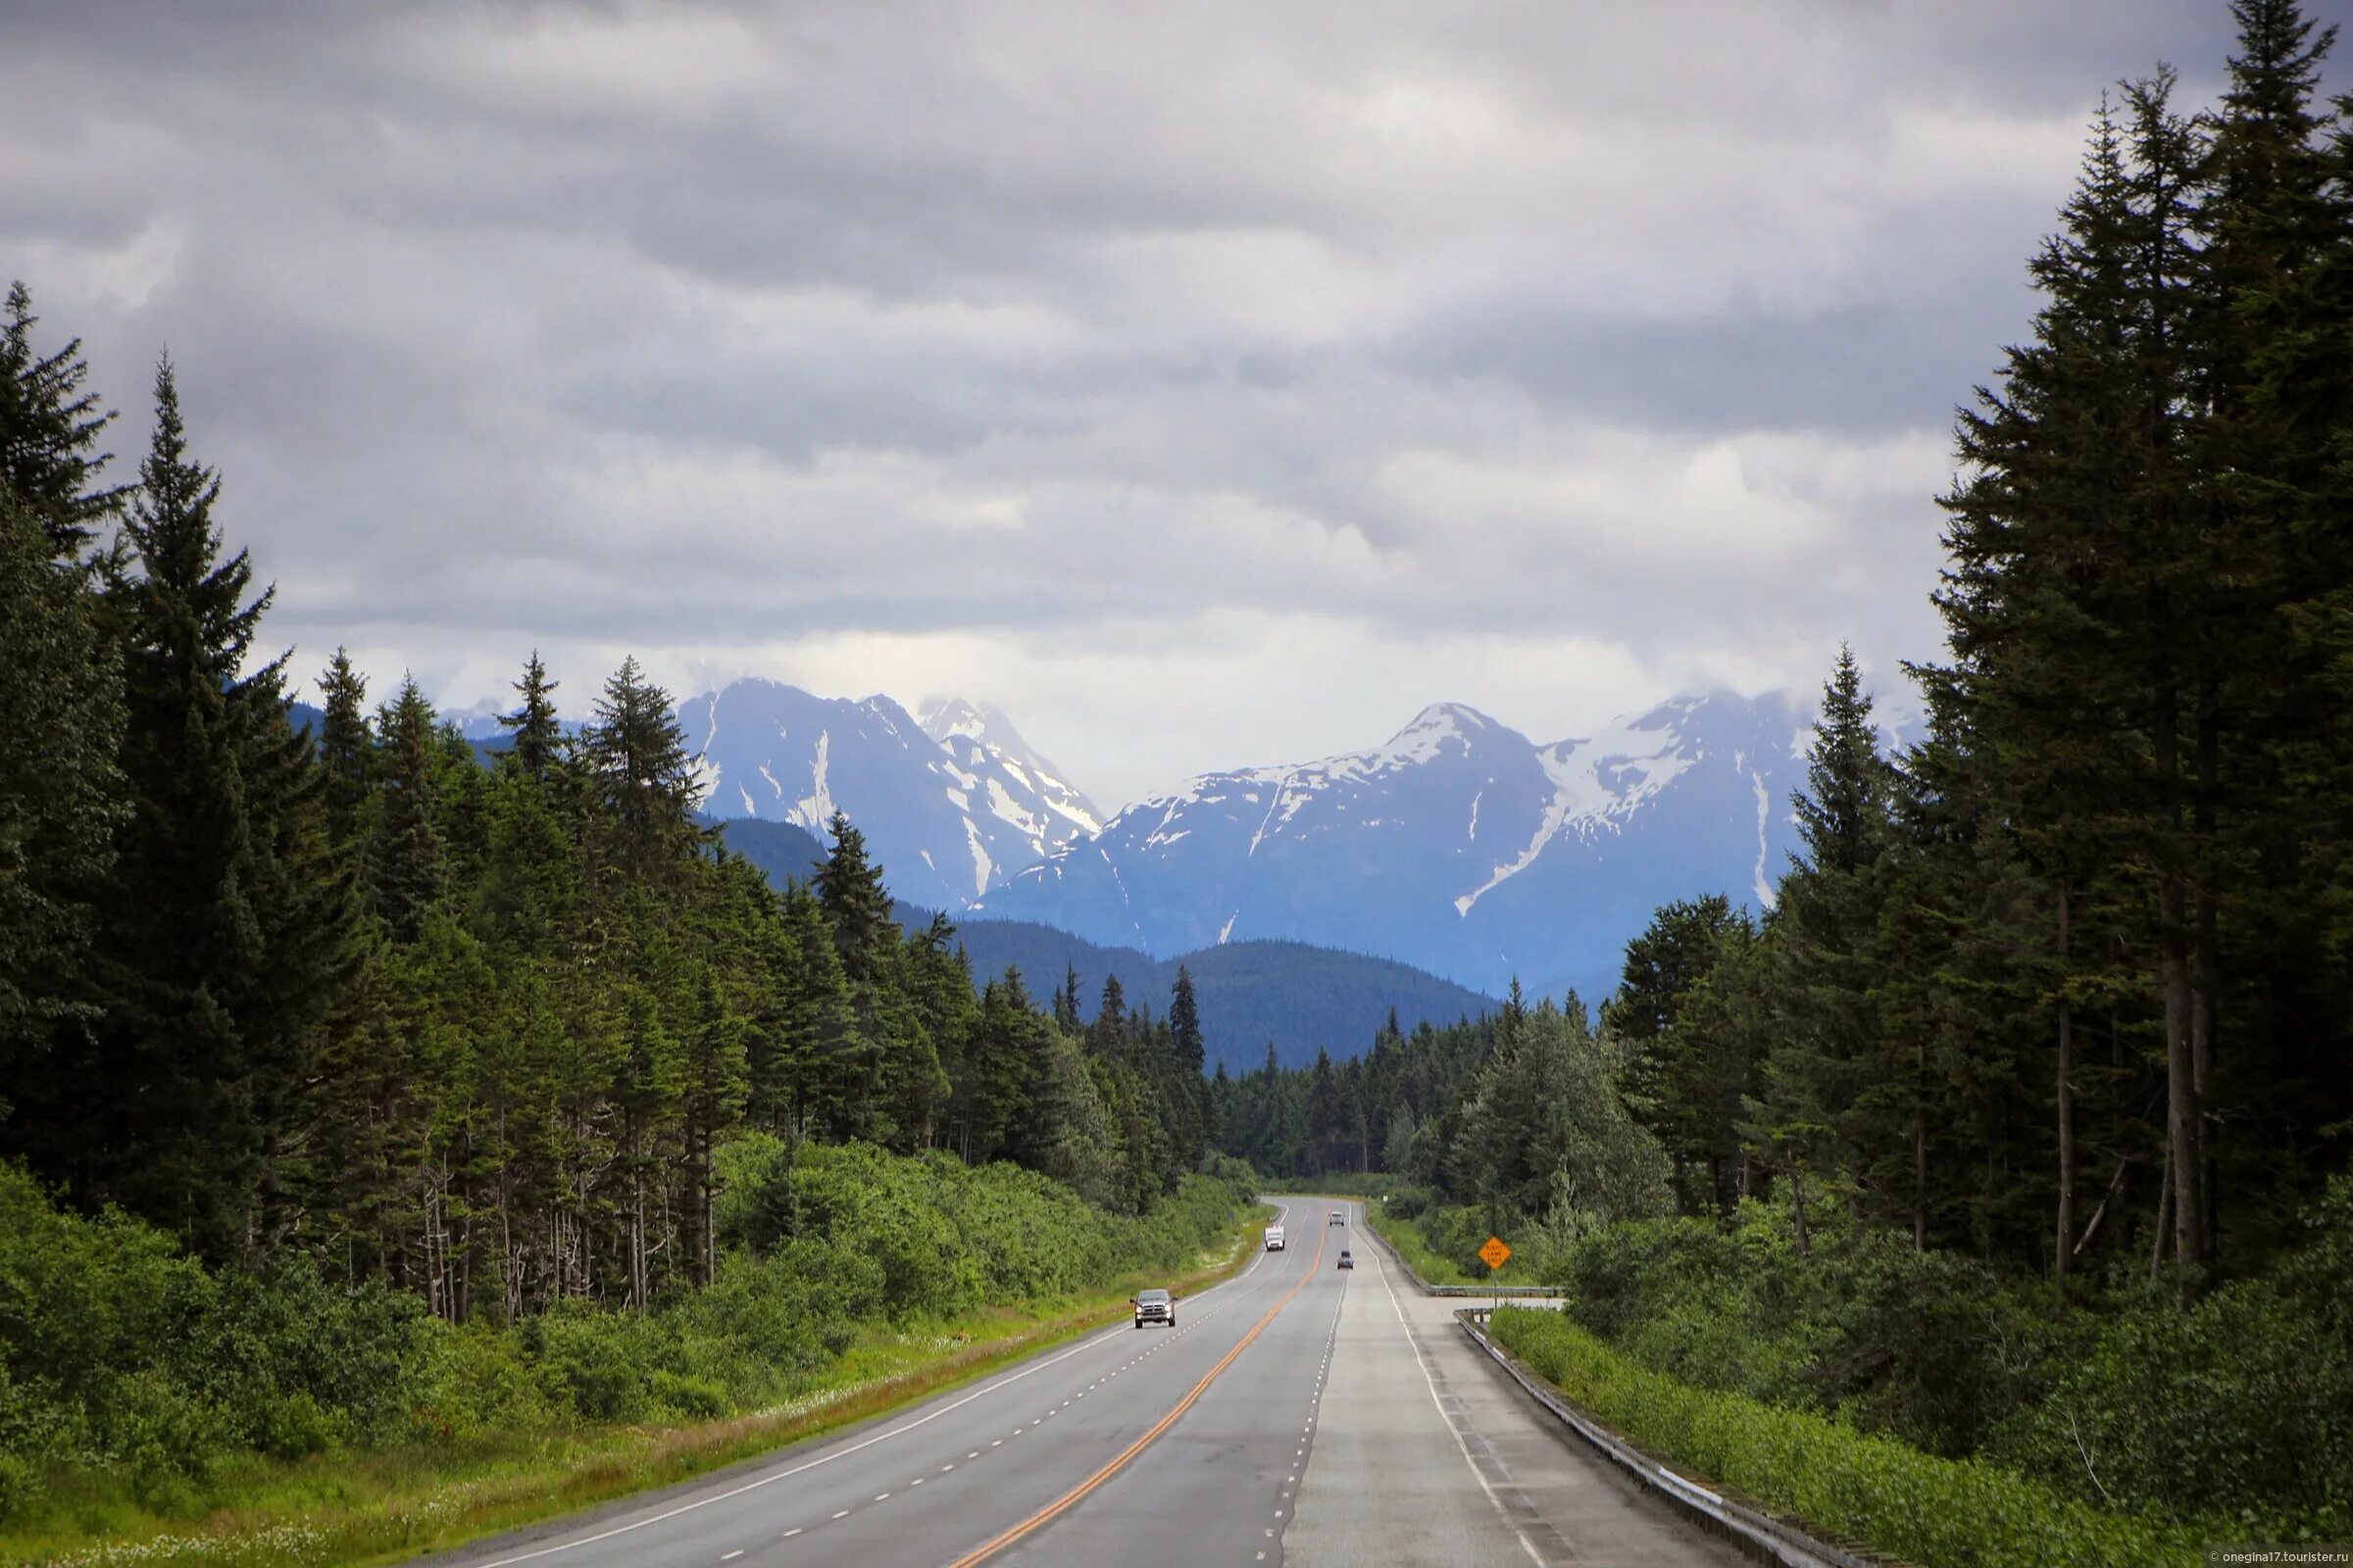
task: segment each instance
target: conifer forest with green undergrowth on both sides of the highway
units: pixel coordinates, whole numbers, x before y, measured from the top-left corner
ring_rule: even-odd
[[[1915,1561],[2353,1542],[2353,96],[2318,14],[2231,16],[2217,101],[2099,101],[1951,484],[1887,522],[1944,555],[1920,717],[1838,651],[1772,898],[1304,1067],[1212,1072],[1264,1041],[1186,971],[976,976],[852,813],[772,882],[638,661],[534,654],[475,745],[287,651],[174,362],[115,456],[14,284],[0,1547],[774,1413],[1238,1267],[1261,1190],[1365,1197],[1440,1284],[1506,1237],[1565,1312],[1497,1333],[1617,1368],[1659,1450],[1722,1401],[1758,1495],[1805,1418],[1944,1465],[1922,1516],[2080,1530],[1885,1526]]]

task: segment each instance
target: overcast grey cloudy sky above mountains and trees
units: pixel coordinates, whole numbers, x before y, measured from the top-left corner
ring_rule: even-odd
[[[2329,7],[2308,7],[2327,12]],[[195,21],[202,14],[205,21]],[[1000,703],[1099,802],[1937,654],[1951,414],[2224,0],[0,5],[0,277],[315,672]],[[2332,71],[2329,85],[2344,85]]]

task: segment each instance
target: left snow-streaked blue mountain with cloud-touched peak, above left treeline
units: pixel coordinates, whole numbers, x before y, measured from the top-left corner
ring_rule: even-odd
[[[1005,715],[962,701],[925,712],[739,679],[680,703],[678,722],[701,759],[706,813],[821,835],[840,809],[911,903],[960,910],[1099,827]]]

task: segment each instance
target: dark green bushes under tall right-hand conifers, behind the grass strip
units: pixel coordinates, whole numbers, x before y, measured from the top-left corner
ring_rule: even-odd
[[[2353,1180],[2304,1244],[2193,1300],[2132,1272],[2014,1279],[1824,1206],[1588,1234],[1553,1281],[1633,1366],[1974,1458],[2094,1509],[2353,1537]]]

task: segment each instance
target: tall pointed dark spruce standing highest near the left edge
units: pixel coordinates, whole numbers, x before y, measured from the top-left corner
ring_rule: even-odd
[[[118,835],[89,1041],[96,1133],[78,1197],[113,1199],[207,1255],[275,1241],[280,1161],[318,1027],[351,964],[351,889],[322,776],[287,719],[282,661],[247,670],[271,592],[221,557],[219,480],[188,458],[172,364],[127,522]]]

